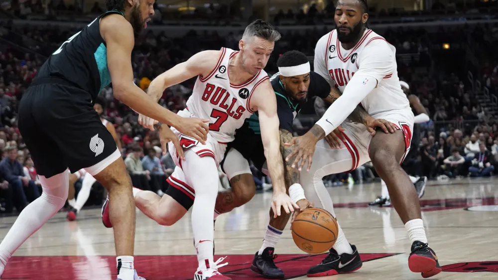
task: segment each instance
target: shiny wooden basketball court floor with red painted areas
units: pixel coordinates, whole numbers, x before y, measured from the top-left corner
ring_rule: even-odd
[[[498,279],[498,180],[461,179],[428,183],[422,217],[429,244],[443,272],[431,279]],[[363,268],[323,280],[422,279],[409,271],[410,243],[393,208],[368,207],[380,184],[328,188],[348,241],[358,247]],[[268,224],[271,193],[258,193],[247,205],[218,217],[215,261],[228,256],[220,272],[234,280],[263,279],[249,270]],[[1,219],[3,237],[15,217]],[[309,267],[325,255],[307,255],[294,244],[287,226],[275,251],[285,279],[307,279]],[[147,280],[189,280],[197,268],[190,213],[165,227],[137,211],[135,267]],[[8,263],[2,280],[115,280],[112,229],[102,225],[100,209],[83,210],[78,221],[58,213],[30,237]]]

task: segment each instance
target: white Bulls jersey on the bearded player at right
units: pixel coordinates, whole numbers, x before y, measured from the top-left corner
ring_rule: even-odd
[[[392,54],[389,56],[392,59],[382,63],[364,62],[368,56],[385,52]],[[371,116],[378,118],[393,113],[413,115],[399,84],[395,57],[396,48],[371,29],[365,30],[361,40],[350,50],[341,46],[337,30],[332,30],[316,44],[314,71],[341,92],[356,73],[373,76],[377,79],[377,87],[361,103]]]

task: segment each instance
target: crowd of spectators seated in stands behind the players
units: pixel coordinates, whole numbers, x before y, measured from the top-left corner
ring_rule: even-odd
[[[328,31],[312,28],[304,33],[283,32],[265,70],[269,74],[276,72],[278,55],[290,49],[299,49],[312,56],[315,42]],[[441,32],[398,28],[382,32],[401,55],[398,57],[400,78],[410,83],[412,93],[419,96],[431,118],[421,124],[422,141],[417,162],[422,167],[415,168],[412,173],[430,178],[490,175],[498,168],[498,123],[494,121],[498,118],[473,98],[473,88],[465,80],[465,74],[435,66],[433,52],[435,45],[442,42],[463,44],[469,37],[477,47],[488,46],[497,39],[498,26],[440,27],[438,31]],[[14,207],[20,211],[40,195],[29,151],[17,130],[17,104],[46,56],[75,32],[50,26],[0,25],[0,39],[13,42],[0,48],[0,212],[12,212]],[[215,31],[192,30],[186,36],[172,38],[164,32],[147,32],[136,39],[132,58],[134,82],[146,90],[155,76],[194,53],[222,46],[237,49],[241,37],[242,33],[220,36]],[[485,84],[493,90],[498,85],[498,60],[486,61],[481,73]],[[168,88],[159,104],[174,112],[182,110],[194,82],[195,79],[191,79]],[[157,132],[139,126],[136,114],[114,99],[112,87],[104,89],[101,98],[106,105],[103,118],[115,125],[133,184],[162,194],[166,188],[164,178],[172,172],[174,163],[169,154],[162,155]],[[297,121],[296,126],[300,128],[297,131],[306,128],[304,121]],[[374,176],[372,165],[365,164],[352,174],[328,177],[326,184],[362,182]],[[260,186],[268,185],[264,180],[257,182]]]

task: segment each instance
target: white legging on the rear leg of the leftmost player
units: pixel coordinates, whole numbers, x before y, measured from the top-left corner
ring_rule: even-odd
[[[39,178],[43,190],[41,196],[22,210],[0,243],[0,275],[15,250],[66,203],[69,190],[69,173],[67,171],[48,179],[42,175]]]

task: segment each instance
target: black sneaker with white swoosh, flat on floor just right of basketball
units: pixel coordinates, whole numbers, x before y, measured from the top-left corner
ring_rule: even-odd
[[[331,276],[344,273],[352,273],[362,266],[360,254],[355,245],[351,245],[353,254],[337,254],[335,249],[330,249],[329,255],[319,264],[308,270],[308,277]]]

